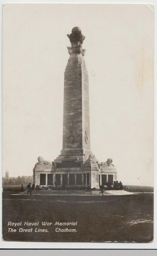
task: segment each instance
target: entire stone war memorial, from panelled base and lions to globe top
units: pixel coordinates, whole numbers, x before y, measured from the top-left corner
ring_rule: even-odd
[[[117,171],[112,159],[101,162],[90,148],[89,84],[84,60],[86,50],[82,49],[85,36],[75,27],[67,35],[71,42],[68,48],[70,58],[64,72],[64,115],[63,149],[53,162],[38,157],[35,164],[34,184],[51,186],[113,185]]]

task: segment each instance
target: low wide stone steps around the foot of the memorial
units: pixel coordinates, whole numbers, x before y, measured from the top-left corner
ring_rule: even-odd
[[[128,192],[124,190],[105,190],[103,192],[104,196],[109,196],[109,195],[115,195],[115,196],[120,196],[120,195],[131,195],[134,194],[133,192]],[[15,194],[12,194],[15,195]],[[27,191],[20,192],[16,195],[27,195]],[[30,194],[28,194],[30,195]],[[86,190],[33,190],[32,191],[33,196],[42,196],[42,195],[47,195],[47,196],[70,196],[70,195],[75,195],[75,196],[102,196],[102,192],[100,190],[96,191],[86,191]]]

